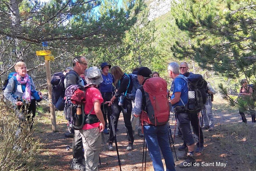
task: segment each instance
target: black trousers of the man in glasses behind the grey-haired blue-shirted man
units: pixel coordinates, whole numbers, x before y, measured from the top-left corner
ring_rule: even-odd
[[[199,125],[199,122],[198,122],[198,115],[197,114],[190,114],[190,122],[191,122],[191,126],[193,128],[193,132],[194,132],[194,135],[195,135],[195,139],[197,140],[197,147],[203,147],[204,145],[204,137],[203,137],[203,132],[202,132],[202,128],[201,126]],[[200,143],[199,143],[199,130],[200,130]],[[185,141],[183,143],[184,146],[187,146]]]

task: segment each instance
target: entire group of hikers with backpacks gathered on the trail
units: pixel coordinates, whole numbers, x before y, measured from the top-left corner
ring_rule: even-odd
[[[97,170],[102,132],[109,134],[108,150],[113,150],[121,112],[127,130],[126,150],[134,149],[137,124],[137,134],[145,138],[154,170],[164,170],[160,150],[166,170],[175,170],[168,130],[170,112],[174,112],[178,127],[175,136],[184,140],[178,149],[185,153],[178,158],[185,161],[179,167],[193,166],[195,153],[204,150],[202,129],[215,130],[212,101],[216,92],[202,75],[188,72],[186,62],[171,62],[167,66],[168,74],[173,79],[169,91],[167,82],[159,73],[147,67],[135,68],[132,74],[126,74],[119,66],[106,62],[100,65],[101,69],[96,66],[88,68],[87,59],[83,56],[75,57],[72,64],[73,68],[68,67],[64,72],[54,74],[51,80],[52,103],[57,109],[64,110],[69,122],[69,132],[65,136],[73,137],[71,169]],[[36,101],[41,100],[42,93],[36,91],[24,62],[17,62],[15,71],[9,76],[3,95],[15,105],[15,113],[20,120],[15,134],[18,137],[22,123],[32,120],[29,122],[32,128]],[[252,95],[247,80],[243,81],[239,95]],[[202,128],[198,116],[200,111],[204,120]],[[243,111],[239,112],[243,122],[246,122]],[[251,111],[251,115],[255,122],[255,112]],[[197,140],[196,148],[190,123]]]

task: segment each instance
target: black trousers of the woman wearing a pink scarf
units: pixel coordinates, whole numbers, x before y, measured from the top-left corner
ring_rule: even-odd
[[[23,103],[21,106],[15,105],[15,114],[20,121],[19,127],[22,122],[28,122],[30,129],[33,128],[33,120],[36,116],[36,100],[32,99],[30,103]],[[31,122],[30,122],[31,121]]]

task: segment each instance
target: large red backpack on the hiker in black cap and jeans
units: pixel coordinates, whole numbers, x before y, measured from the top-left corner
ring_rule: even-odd
[[[140,87],[142,92],[141,122],[164,125],[170,116],[167,82],[163,78],[147,79]]]

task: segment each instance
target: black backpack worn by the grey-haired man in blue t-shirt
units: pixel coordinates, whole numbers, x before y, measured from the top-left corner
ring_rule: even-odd
[[[189,77],[178,76],[176,78],[182,78],[188,85],[188,103],[186,112],[191,114],[200,112],[207,100],[207,82],[200,74],[190,74]]]

